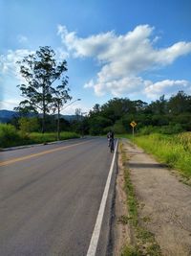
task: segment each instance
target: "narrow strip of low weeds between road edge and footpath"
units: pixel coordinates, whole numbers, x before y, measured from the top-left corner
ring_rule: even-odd
[[[128,156],[126,155],[123,144],[119,143],[119,153],[121,154],[122,168],[125,179],[124,190],[127,196],[128,213],[122,216],[118,221],[128,224],[133,230],[131,244],[125,244],[122,248],[121,256],[159,256],[161,255],[159,244],[155,241],[155,236],[143,227],[138,218],[138,200],[135,189],[131,182],[130,171],[127,168]]]

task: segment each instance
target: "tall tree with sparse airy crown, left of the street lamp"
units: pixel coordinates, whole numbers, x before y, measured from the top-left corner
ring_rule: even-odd
[[[27,82],[18,85],[21,96],[26,100],[19,104],[17,110],[42,112],[42,132],[44,132],[46,115],[55,107],[55,92],[58,96],[62,95],[62,91],[68,92],[68,77],[63,76],[67,71],[67,61],[57,63],[53,49],[50,46],[44,46],[40,47],[35,54],[17,63],[20,64],[21,76]],[[57,86],[56,81],[60,81]],[[63,93],[63,97],[65,96]]]

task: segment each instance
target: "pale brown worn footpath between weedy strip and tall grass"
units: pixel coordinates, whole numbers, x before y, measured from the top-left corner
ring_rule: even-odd
[[[155,235],[162,255],[191,255],[191,188],[128,140],[122,143],[141,224]]]

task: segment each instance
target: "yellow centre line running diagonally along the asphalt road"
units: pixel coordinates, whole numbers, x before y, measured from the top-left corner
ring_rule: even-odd
[[[20,162],[20,161],[23,161],[23,160],[26,160],[26,159],[30,159],[30,158],[35,157],[35,156],[43,155],[43,154],[46,154],[46,153],[51,153],[51,152],[54,152],[54,151],[66,150],[66,149],[69,149],[69,148],[73,148],[74,146],[77,146],[77,145],[86,144],[88,142],[89,141],[80,142],[80,143],[76,143],[76,144],[73,144],[73,145],[56,148],[56,149],[49,150],[49,151],[42,151],[42,152],[32,153],[32,154],[29,154],[29,155],[26,155],[26,156],[22,156],[22,157],[18,157],[18,158],[13,158],[11,160],[0,162],[0,166],[10,165],[10,164],[13,164],[13,163],[16,163],[16,162]]]

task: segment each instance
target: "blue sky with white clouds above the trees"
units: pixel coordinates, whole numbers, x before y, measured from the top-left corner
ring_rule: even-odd
[[[23,100],[16,61],[39,46],[67,60],[74,103],[63,114],[191,95],[190,12],[190,0],[0,0],[0,108]]]

